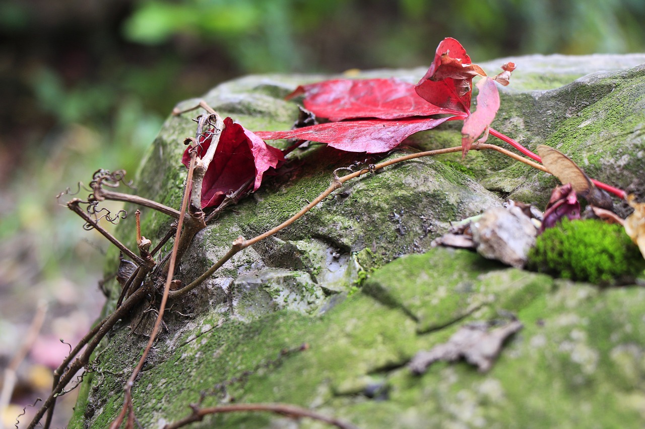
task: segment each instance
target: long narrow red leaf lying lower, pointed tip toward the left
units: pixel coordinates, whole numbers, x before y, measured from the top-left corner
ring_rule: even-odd
[[[350,120],[312,125],[290,131],[258,131],[255,135],[265,140],[301,138],[326,143],[332,148],[343,151],[379,153],[399,146],[403,140],[414,133],[435,128],[452,118]]]

